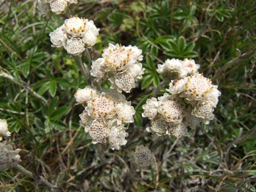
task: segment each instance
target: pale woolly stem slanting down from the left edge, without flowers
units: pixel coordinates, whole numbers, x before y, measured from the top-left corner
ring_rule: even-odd
[[[1,67],[0,67],[0,77],[7,78],[10,81],[12,81],[12,83],[17,84],[17,85],[19,85],[21,87],[24,87],[25,89],[29,90],[32,93],[32,95],[34,95],[38,99],[44,101],[44,103],[47,103],[47,100],[43,96],[41,96],[37,92],[35,92],[25,82],[20,81],[20,80],[16,79],[15,77],[11,76],[10,73],[6,69],[1,68]]]

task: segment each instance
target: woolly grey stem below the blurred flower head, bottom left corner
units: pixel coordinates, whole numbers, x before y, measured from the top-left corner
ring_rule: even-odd
[[[24,167],[22,167],[22,166],[19,165],[19,164],[16,165],[16,166],[14,166],[14,167],[12,167],[12,168],[16,169],[17,171],[19,171],[20,173],[22,173],[22,174],[24,174],[24,175],[26,175],[26,176],[28,176],[28,177],[30,177],[30,178],[36,180],[37,182],[43,183],[43,184],[46,185],[47,187],[51,188],[52,191],[58,191],[58,192],[63,191],[62,188],[57,187],[57,186],[52,185],[51,183],[49,183],[47,180],[44,179],[43,176],[37,174],[36,172],[30,172],[30,171],[26,170]]]

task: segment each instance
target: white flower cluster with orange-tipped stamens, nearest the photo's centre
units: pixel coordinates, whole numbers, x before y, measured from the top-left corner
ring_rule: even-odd
[[[141,79],[144,74],[145,68],[138,62],[143,59],[142,50],[131,45],[108,45],[108,48],[103,50],[103,58],[92,62],[91,75],[96,77],[97,81],[109,77],[112,89],[130,92],[135,87],[134,82]]]

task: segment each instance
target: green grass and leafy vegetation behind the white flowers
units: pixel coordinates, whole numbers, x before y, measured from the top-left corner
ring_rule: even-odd
[[[36,1],[0,1],[0,65],[15,78],[0,78],[0,118],[8,121],[10,143],[22,149],[21,165],[65,191],[255,191],[255,8],[253,0],[78,0],[71,6],[72,14],[100,28],[93,60],[108,43],[143,50],[145,74],[125,94],[136,110],[128,143],[119,151],[107,147],[104,158],[79,125],[83,108],[73,95],[85,79],[71,55],[51,47],[48,34],[65,18],[39,17]],[[215,118],[189,137],[166,137],[154,151],[155,164],[137,170],[130,161],[135,146],[154,143],[141,107],[163,80],[156,65],[190,57],[222,92]],[[0,178],[0,191],[49,190],[12,170]]]

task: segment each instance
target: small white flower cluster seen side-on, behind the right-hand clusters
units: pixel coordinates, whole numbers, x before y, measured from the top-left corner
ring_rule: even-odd
[[[188,75],[198,74],[199,64],[190,59],[167,59],[164,64],[158,64],[156,71],[163,76],[174,76],[175,78],[184,78]]]

